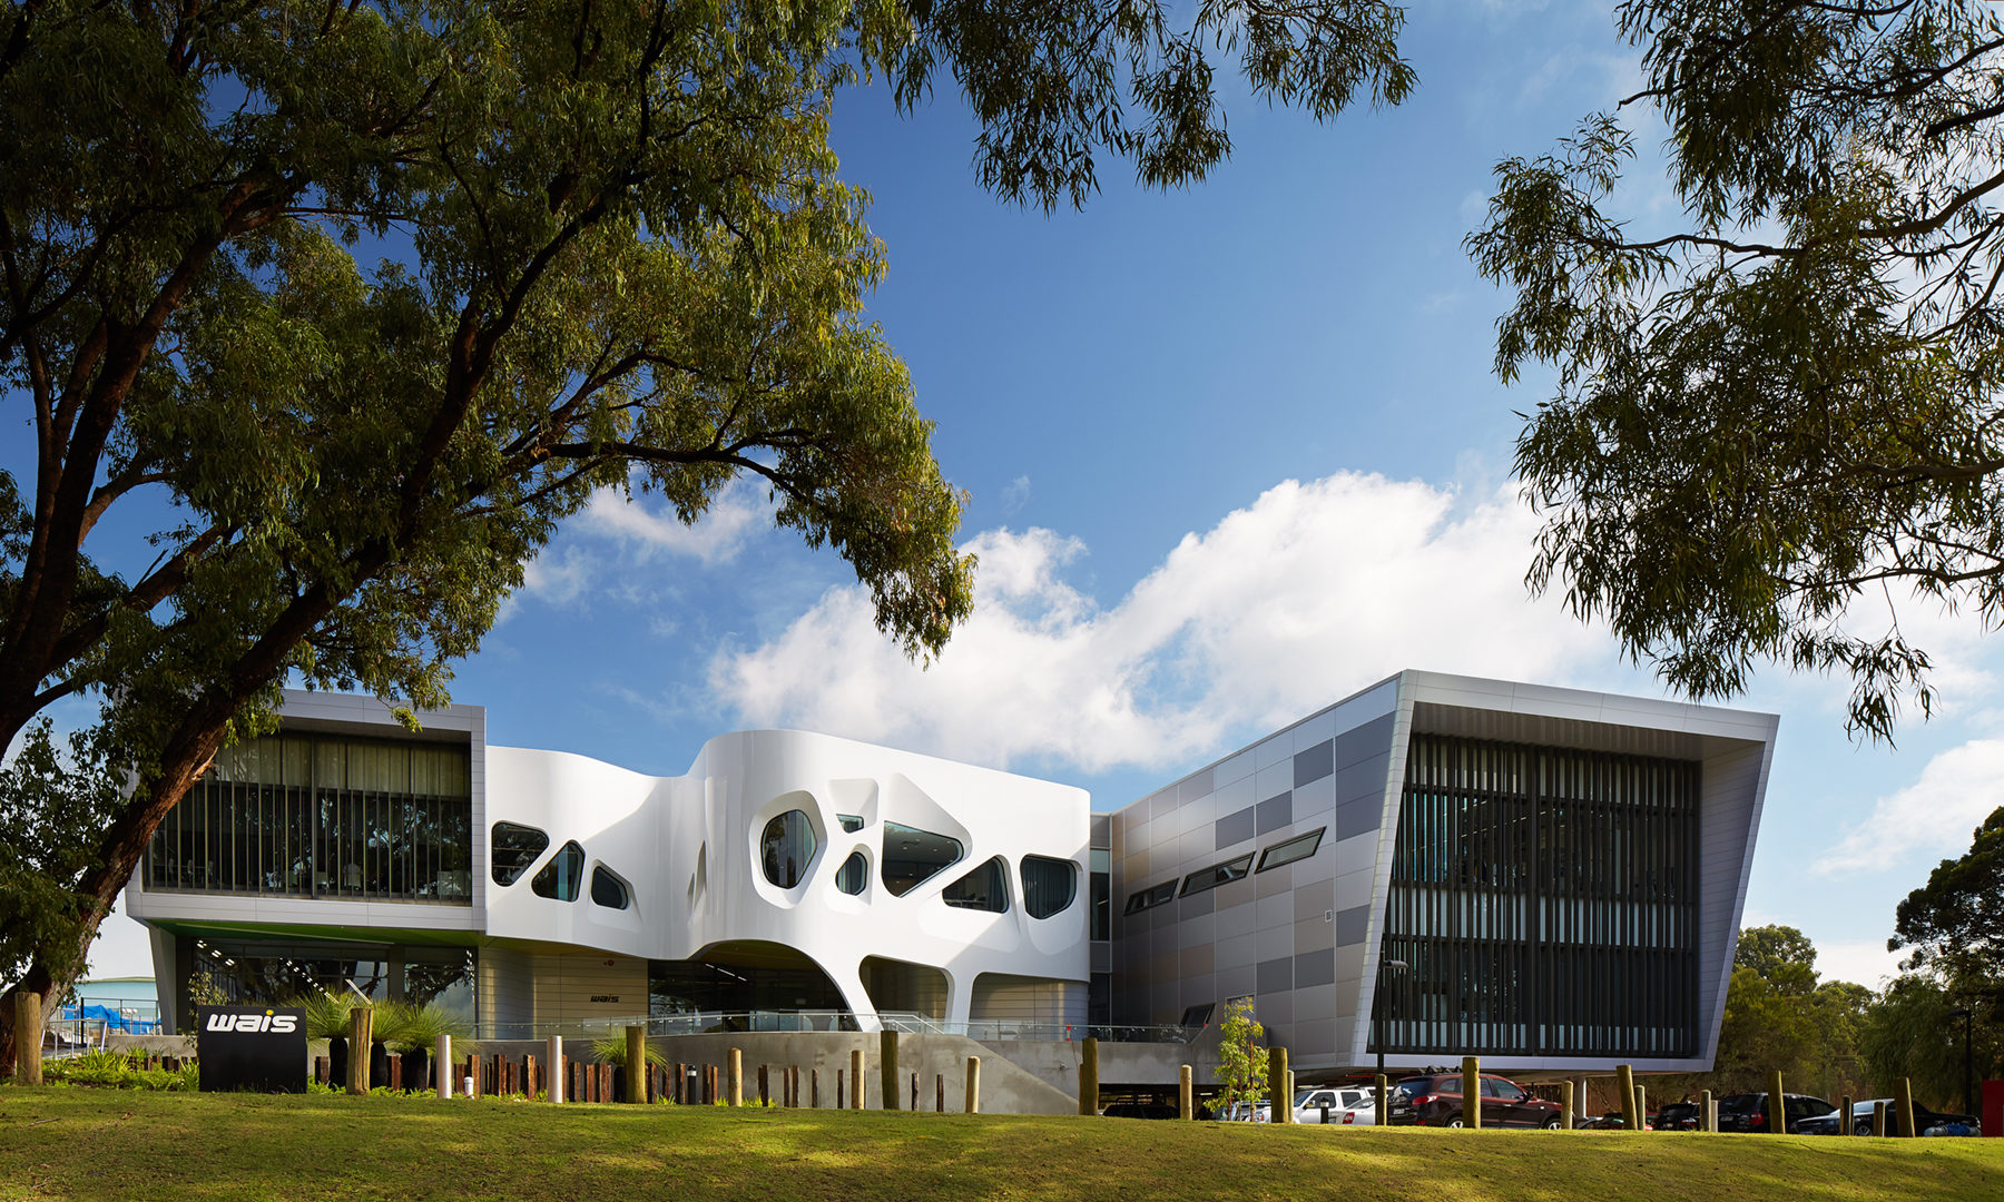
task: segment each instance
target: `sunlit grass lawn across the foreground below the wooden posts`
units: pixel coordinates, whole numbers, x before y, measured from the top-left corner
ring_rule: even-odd
[[[1960,1202],[2000,1194],[2004,1140],[1379,1132],[0,1088],[0,1200]]]

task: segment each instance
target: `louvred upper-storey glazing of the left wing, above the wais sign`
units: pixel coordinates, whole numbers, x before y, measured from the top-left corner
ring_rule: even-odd
[[[146,887],[473,899],[465,745],[269,735],[216,755],[146,849]]]

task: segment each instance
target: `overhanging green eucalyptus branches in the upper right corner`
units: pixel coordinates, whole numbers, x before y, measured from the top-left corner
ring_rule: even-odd
[[[1607,212],[1611,114],[1497,166],[1467,246],[1515,303],[1497,373],[1557,373],[1517,441],[1565,589],[1695,697],[1756,661],[1852,677],[1890,737],[1932,701],[1910,595],[2004,619],[2004,34],[1976,0],[1627,0],[1687,222]],[[1627,100],[1623,102],[1627,104]]]

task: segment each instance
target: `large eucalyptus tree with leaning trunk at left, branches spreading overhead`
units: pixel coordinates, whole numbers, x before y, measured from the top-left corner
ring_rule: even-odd
[[[888,637],[936,653],[972,597],[960,495],[860,317],[884,248],[836,170],[834,96],[882,76],[912,106],[950,74],[982,182],[1050,208],[1106,156],[1202,178],[1230,148],[1218,64],[1317,116],[1397,102],[1401,20],[1373,0],[14,4],[0,371],[34,467],[0,473],[0,741],[68,697],[102,721],[86,761],[44,739],[40,783],[0,807],[86,815],[12,861],[64,910],[48,889],[0,910],[0,964],[66,980],[283,679],[443,703],[599,487],[695,521],[758,479]],[[130,781],[116,803],[78,785],[88,805],[36,809],[90,765]]]

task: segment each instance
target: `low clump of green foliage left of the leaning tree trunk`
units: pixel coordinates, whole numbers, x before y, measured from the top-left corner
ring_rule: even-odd
[[[116,813],[118,779],[88,733],[58,745],[48,719],[28,727],[0,767],[0,982],[40,960],[60,998],[84,968],[102,914],[82,887],[102,863],[90,831]]]

